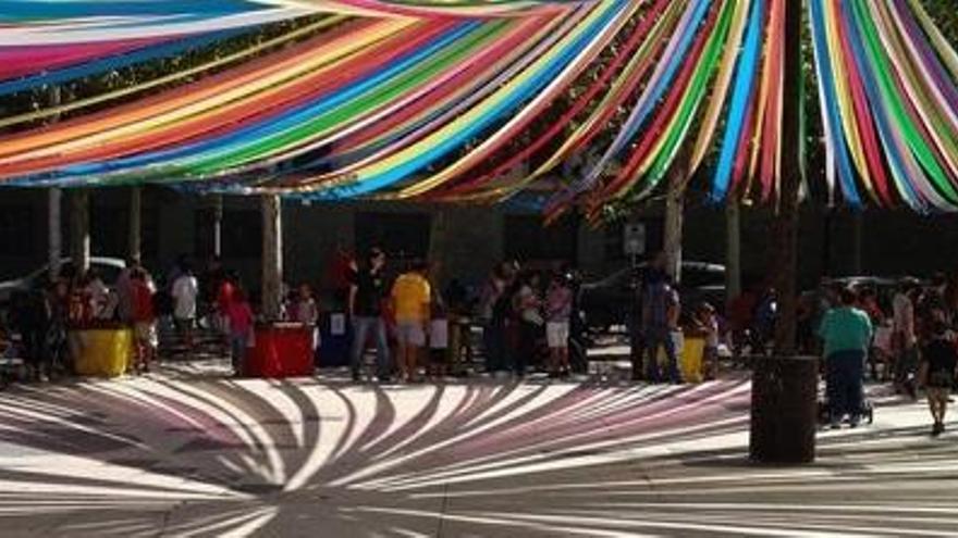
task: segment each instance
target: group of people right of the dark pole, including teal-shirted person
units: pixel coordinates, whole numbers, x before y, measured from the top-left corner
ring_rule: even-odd
[[[929,285],[906,278],[889,290],[825,283],[819,293],[832,426],[843,420],[859,423],[870,372],[912,399],[924,390],[932,435],[941,435],[950,391],[958,386],[958,278],[936,275]]]

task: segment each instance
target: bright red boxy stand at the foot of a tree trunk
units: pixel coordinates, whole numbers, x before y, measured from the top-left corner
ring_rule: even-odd
[[[249,377],[312,375],[312,330],[298,323],[256,327],[256,346],[246,358]]]

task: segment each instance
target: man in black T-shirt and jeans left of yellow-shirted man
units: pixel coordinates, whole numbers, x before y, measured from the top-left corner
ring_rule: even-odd
[[[353,323],[353,380],[360,379],[363,355],[372,335],[376,341],[377,377],[380,381],[389,381],[392,367],[383,316],[386,298],[385,253],[378,248],[370,249],[366,263],[352,278],[346,311]]]

